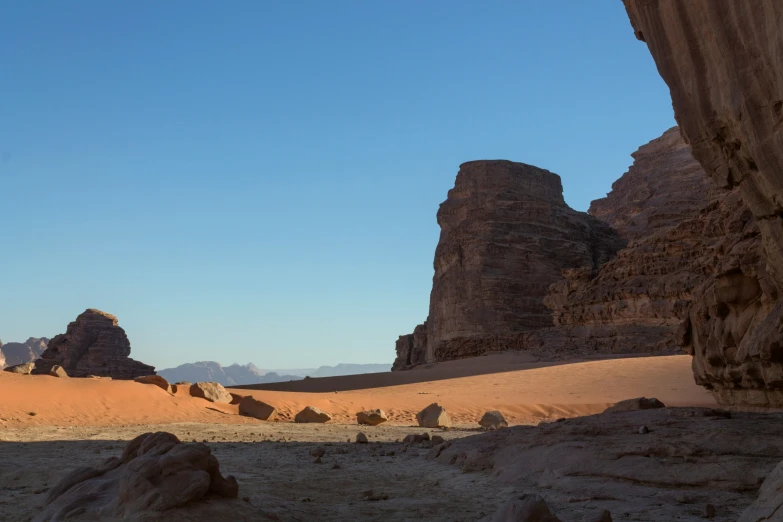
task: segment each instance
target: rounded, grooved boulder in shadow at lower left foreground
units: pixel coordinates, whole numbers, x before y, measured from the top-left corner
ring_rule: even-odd
[[[120,458],[78,468],[49,490],[35,521],[138,518],[208,496],[236,498],[234,477],[223,477],[209,447],[171,433],[145,433]]]

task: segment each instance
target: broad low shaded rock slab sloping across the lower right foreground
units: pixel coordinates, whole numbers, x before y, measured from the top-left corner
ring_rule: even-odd
[[[604,413],[447,441],[429,456],[540,494],[563,520],[606,509],[617,520],[696,522],[712,504],[715,520],[729,521],[751,504],[768,513],[780,502],[772,471],[783,454],[781,421],[703,408]]]

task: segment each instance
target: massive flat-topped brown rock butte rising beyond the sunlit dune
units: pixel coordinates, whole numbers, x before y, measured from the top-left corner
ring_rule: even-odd
[[[596,269],[624,245],[566,205],[559,176],[511,161],[462,164],[438,224],[429,317],[398,341],[395,369],[520,348],[553,324],[544,297],[564,268]]]

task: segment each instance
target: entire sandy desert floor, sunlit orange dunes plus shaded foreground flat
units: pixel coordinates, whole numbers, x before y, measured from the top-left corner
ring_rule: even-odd
[[[497,357],[482,363],[502,369],[500,358],[510,356]],[[641,395],[670,405],[714,405],[693,383],[687,356],[524,361],[507,366],[511,371],[444,377],[459,374],[459,366],[404,372],[400,384],[382,387],[373,387],[379,374],[363,377],[363,385],[346,378],[360,389],[339,392],[232,390],[269,402],[283,419],[317,406],[334,416],[327,425],[240,417],[236,406],[135,382],[0,372],[0,393],[12,398],[0,402],[0,520],[30,520],[67,472],[119,455],[127,440],[148,431],[207,442],[223,473],[237,477],[244,497],[198,503],[160,520],[480,520],[518,490],[490,473],[465,474],[426,459],[428,448],[399,442],[423,431],[414,427],[414,415],[431,402],[443,404],[457,424],[434,430],[447,440],[479,433],[476,421],[488,409],[503,411],[512,424],[535,424],[597,413]],[[414,382],[403,383],[411,378],[406,373],[417,374]],[[380,375],[386,382],[395,378]],[[355,413],[367,408],[384,409],[389,423],[357,426]],[[360,430],[370,443],[348,442]],[[326,455],[315,463],[310,450],[319,445]],[[378,500],[365,499],[369,490]]]

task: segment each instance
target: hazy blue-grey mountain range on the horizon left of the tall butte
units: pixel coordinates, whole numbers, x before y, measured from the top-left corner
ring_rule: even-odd
[[[181,364],[176,368],[158,370],[157,374],[169,382],[219,382],[223,386],[241,384],[268,384],[273,382],[297,381],[305,377],[334,377],[359,373],[388,372],[391,364],[344,364],[321,366],[320,368],[298,368],[291,370],[262,370],[253,363],[222,366],[215,361],[199,361]]]

